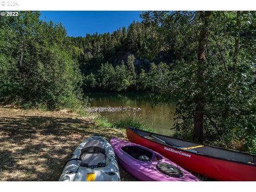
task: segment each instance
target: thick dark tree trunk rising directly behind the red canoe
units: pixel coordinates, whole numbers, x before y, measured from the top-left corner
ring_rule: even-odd
[[[198,49],[197,49],[197,84],[200,92],[196,95],[196,107],[194,117],[194,141],[203,141],[203,121],[204,121],[204,71],[205,71],[205,52],[207,47],[207,38],[209,36],[209,17],[211,11],[200,11],[199,17],[203,24],[199,31]]]

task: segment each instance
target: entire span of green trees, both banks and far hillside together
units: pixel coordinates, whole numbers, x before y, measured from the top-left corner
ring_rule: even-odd
[[[256,12],[145,11],[113,33],[69,37],[20,12],[0,19],[0,101],[83,108],[86,93],[177,100],[176,137],[256,151]]]

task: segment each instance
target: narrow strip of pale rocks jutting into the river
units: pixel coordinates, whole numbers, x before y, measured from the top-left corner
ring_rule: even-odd
[[[85,109],[86,111],[92,112],[92,113],[101,113],[101,112],[118,112],[118,111],[140,111],[141,108],[139,107],[89,107]]]

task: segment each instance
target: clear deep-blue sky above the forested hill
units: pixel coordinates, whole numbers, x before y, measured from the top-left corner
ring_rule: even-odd
[[[41,11],[41,19],[61,22],[69,36],[85,36],[98,32],[112,33],[119,27],[128,27],[141,21],[140,11]]]

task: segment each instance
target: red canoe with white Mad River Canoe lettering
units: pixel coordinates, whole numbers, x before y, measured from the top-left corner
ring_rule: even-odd
[[[256,155],[200,145],[165,135],[126,128],[127,138],[169,158],[186,170],[219,181],[256,181]]]

